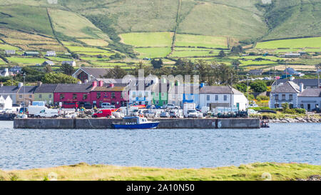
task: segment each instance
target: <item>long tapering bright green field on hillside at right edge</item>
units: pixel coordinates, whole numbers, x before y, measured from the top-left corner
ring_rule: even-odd
[[[258,42],[256,48],[259,49],[278,49],[278,48],[319,48],[321,51],[321,37],[312,37],[305,39],[285,39],[277,41]]]

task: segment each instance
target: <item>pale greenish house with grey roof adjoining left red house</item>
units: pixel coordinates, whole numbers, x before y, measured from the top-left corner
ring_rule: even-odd
[[[41,84],[39,82],[34,91],[34,101],[44,101],[46,104],[54,104],[54,91],[58,84]]]

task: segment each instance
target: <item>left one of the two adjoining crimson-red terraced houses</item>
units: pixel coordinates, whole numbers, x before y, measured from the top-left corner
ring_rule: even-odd
[[[66,108],[69,108],[68,105],[71,105],[71,107],[74,108],[74,103],[92,104],[91,90],[95,89],[96,86],[96,81],[92,84],[58,84],[54,91],[54,102],[61,102]]]

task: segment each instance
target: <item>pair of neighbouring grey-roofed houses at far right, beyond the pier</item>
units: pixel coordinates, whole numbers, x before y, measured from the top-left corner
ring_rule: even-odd
[[[318,79],[279,79],[272,84],[270,108],[288,103],[290,108],[311,111],[321,106],[321,83]]]

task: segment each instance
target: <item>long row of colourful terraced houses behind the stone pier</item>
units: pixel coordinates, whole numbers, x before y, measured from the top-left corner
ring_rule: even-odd
[[[236,106],[245,110],[248,100],[238,90],[230,86],[206,86],[205,84],[180,84],[153,77],[148,81],[138,78],[103,79],[108,69],[80,68],[73,76],[78,84],[39,84],[37,86],[0,86],[0,95],[11,96],[13,104],[26,99],[26,105],[32,101],[46,101],[48,104],[88,103],[98,108],[103,102],[116,107],[130,104],[165,106],[183,103],[195,103],[202,106]],[[82,82],[81,82],[82,81]]]

